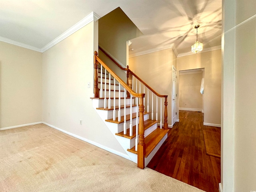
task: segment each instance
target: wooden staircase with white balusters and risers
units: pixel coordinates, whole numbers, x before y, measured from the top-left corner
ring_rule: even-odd
[[[143,169],[168,137],[167,96],[156,93],[130,71],[128,66],[122,68],[117,65],[121,70],[126,71],[127,83],[100,60],[97,52],[94,52],[93,106],[130,160]],[[164,109],[162,98],[165,98]],[[159,101],[160,105],[158,105]],[[152,105],[150,106],[149,103]],[[162,111],[164,111],[164,124],[162,124]]]

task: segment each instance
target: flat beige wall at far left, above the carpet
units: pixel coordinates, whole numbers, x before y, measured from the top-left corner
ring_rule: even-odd
[[[42,121],[42,53],[0,42],[0,128]]]

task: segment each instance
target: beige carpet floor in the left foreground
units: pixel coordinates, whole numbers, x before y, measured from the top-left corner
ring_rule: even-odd
[[[0,131],[1,192],[202,192],[44,124]]]

